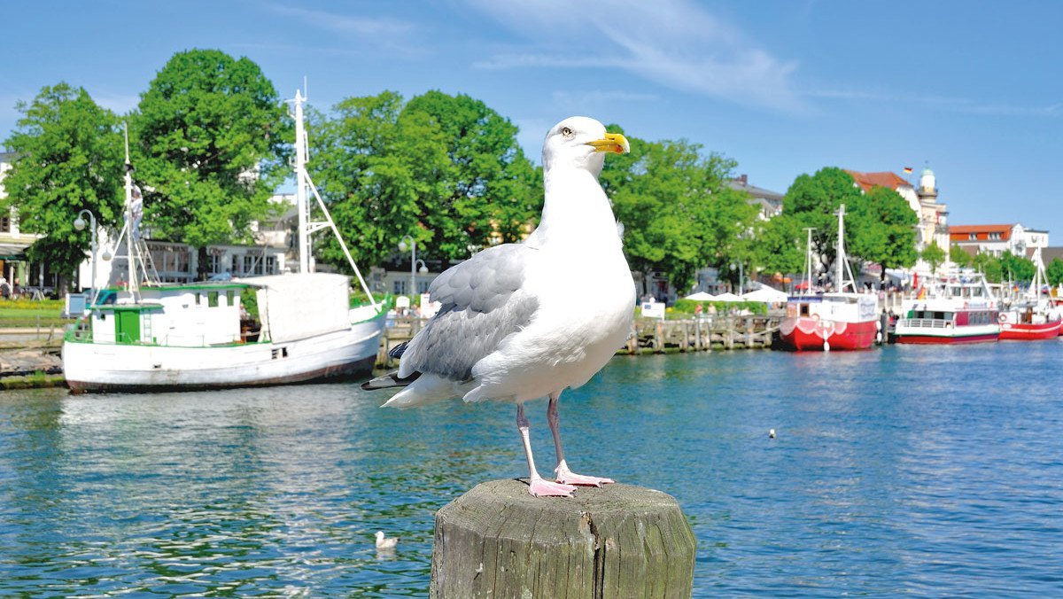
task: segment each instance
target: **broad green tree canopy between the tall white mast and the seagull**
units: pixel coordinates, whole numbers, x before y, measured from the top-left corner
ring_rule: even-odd
[[[542,207],[541,174],[517,128],[468,96],[349,98],[311,123],[309,170],[354,257],[376,264],[412,235],[444,261],[516,242]],[[340,263],[322,239],[322,260]]]

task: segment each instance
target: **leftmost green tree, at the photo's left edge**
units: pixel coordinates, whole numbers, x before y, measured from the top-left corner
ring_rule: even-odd
[[[122,136],[111,111],[67,83],[43,88],[17,110],[22,116],[6,140],[17,157],[0,210],[15,206],[22,231],[46,235],[30,246],[28,257],[65,281],[89,249],[91,232],[73,227],[78,213],[91,211],[106,224],[121,212]]]

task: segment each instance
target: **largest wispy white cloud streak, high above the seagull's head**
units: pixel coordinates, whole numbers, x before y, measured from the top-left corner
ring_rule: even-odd
[[[466,1],[525,39],[478,68],[612,68],[737,103],[803,109],[792,85],[796,62],[690,0]]]

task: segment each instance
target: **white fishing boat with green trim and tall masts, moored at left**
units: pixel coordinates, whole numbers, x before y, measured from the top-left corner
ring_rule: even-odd
[[[125,173],[129,283],[98,296],[63,343],[63,370],[73,393],[149,392],[274,385],[368,375],[376,360],[386,309],[373,299],[317,188],[306,173],[301,93],[296,94],[296,203],[300,272],[230,282],[140,284],[139,200]],[[129,162],[126,151],[126,162]],[[307,190],[323,220],[311,221]],[[350,306],[345,276],[313,272],[310,233],[331,228],[367,305]],[[116,256],[121,257],[121,256]],[[149,265],[150,266],[150,265]],[[138,278],[138,269],[141,277]]]

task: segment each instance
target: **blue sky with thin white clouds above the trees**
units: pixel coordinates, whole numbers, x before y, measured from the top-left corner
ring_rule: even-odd
[[[701,144],[784,193],[825,166],[933,169],[951,224],[1063,245],[1063,2],[183,0],[3,6],[0,139],[61,81],[118,113],[173,53],[257,63],[318,110],[385,89],[468,94],[542,138],[572,115]],[[313,156],[313,149],[311,149]]]

